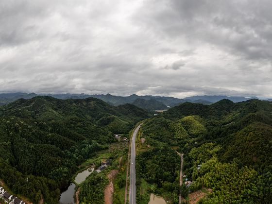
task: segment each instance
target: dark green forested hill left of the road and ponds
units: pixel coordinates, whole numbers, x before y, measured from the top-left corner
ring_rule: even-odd
[[[132,104],[38,96],[0,106],[0,179],[15,194],[58,203],[77,166],[148,113]],[[27,181],[28,178],[28,182]]]

